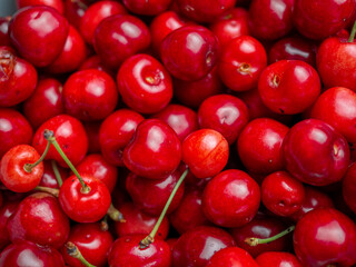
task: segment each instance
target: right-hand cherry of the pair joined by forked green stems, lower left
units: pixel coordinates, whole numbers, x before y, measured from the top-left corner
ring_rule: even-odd
[[[91,176],[82,175],[81,178],[90,191],[82,192],[79,179],[76,176],[70,176],[59,190],[59,204],[67,216],[75,221],[98,221],[110,207],[110,191],[102,181]]]

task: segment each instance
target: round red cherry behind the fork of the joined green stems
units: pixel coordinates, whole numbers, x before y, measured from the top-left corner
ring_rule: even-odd
[[[41,154],[47,146],[47,140],[43,137],[46,129],[53,131],[57,142],[75,166],[83,159],[88,151],[88,137],[79,120],[68,115],[59,115],[42,123],[32,140],[32,146]],[[60,166],[68,168],[53,146],[49,149],[46,159],[55,159]]]

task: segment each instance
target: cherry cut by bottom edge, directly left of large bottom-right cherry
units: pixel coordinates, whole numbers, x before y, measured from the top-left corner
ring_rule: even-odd
[[[259,267],[303,267],[296,256],[290,253],[264,253],[255,260]]]

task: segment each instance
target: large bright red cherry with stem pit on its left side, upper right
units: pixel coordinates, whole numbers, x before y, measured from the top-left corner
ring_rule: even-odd
[[[299,113],[320,93],[317,71],[300,60],[280,60],[260,75],[258,91],[264,103],[277,113]]]

